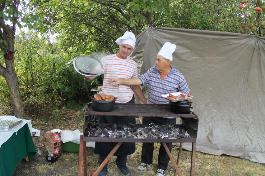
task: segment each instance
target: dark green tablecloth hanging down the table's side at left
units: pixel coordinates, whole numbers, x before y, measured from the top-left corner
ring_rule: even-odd
[[[26,123],[21,129],[1,145],[0,148],[0,176],[11,176],[16,164],[28,156],[32,158],[36,154],[36,149],[30,134],[30,129]]]

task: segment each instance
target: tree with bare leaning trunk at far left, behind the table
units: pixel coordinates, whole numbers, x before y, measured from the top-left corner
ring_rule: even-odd
[[[0,75],[5,78],[9,89],[9,95],[12,100],[14,115],[16,117],[25,118],[24,106],[19,90],[19,81],[14,65],[14,44],[16,25],[22,27],[18,20],[24,21],[29,28],[38,16],[24,16],[21,8],[26,8],[24,0],[1,0],[0,1],[0,48],[3,56],[0,62]],[[34,22],[33,27],[38,26],[38,22]],[[3,61],[4,60],[4,61]]]

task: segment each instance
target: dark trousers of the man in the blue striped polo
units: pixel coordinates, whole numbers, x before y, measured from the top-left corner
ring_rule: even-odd
[[[166,119],[162,117],[143,117],[142,124],[176,124],[176,119]],[[170,153],[172,148],[172,143],[166,143]],[[154,152],[154,143],[143,143],[142,144],[142,163],[152,164],[153,163],[153,152]],[[160,143],[159,153],[158,153],[158,163],[157,168],[166,170],[170,157],[168,156],[165,147]]]

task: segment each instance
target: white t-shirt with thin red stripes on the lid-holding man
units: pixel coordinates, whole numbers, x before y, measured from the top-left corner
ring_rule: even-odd
[[[100,60],[103,64],[103,85],[102,91],[105,95],[113,95],[117,98],[115,103],[128,103],[133,98],[131,86],[117,85],[112,86],[108,79],[110,78],[137,78],[137,64],[129,57],[120,59],[113,55],[107,55]]]

